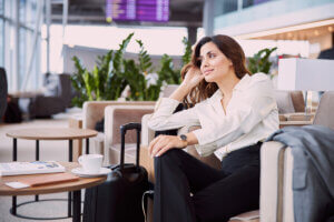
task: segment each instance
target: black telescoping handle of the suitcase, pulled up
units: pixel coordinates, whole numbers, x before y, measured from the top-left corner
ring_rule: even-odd
[[[137,122],[130,122],[124,125],[120,125],[120,170],[124,169],[124,157],[125,157],[125,134],[128,130],[136,130],[137,131],[137,150],[136,150],[136,164],[139,167],[139,148],[140,148],[140,131],[141,124]]]

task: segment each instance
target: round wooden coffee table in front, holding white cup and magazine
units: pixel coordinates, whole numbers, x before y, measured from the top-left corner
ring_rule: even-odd
[[[70,172],[73,168],[78,168],[79,163],[76,162],[60,162],[66,168],[67,172]],[[107,176],[99,178],[80,178],[78,181],[72,182],[62,182],[49,185],[39,185],[35,188],[26,188],[26,189],[12,189],[7,186],[6,182],[18,181],[22,178],[33,178],[40,176],[42,174],[31,174],[31,175],[8,175],[0,176],[0,195],[35,195],[35,194],[46,194],[46,193],[58,193],[58,192],[67,192],[73,191],[73,215],[72,221],[79,222],[81,214],[81,189],[91,188],[95,185],[99,185],[106,181]],[[13,209],[11,209],[13,210]],[[24,216],[22,216],[24,218]],[[27,218],[27,216],[26,216]]]

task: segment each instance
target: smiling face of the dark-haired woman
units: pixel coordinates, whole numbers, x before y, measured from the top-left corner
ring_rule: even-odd
[[[202,46],[198,60],[200,60],[200,71],[207,82],[224,81],[232,73],[232,61],[214,42]]]

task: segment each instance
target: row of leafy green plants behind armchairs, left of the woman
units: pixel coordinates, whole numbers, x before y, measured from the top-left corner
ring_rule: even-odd
[[[125,59],[124,53],[134,33],[130,33],[116,51],[108,51],[106,56],[98,57],[97,65],[89,72],[77,57],[73,57],[76,72],[71,80],[79,95],[73,99],[75,105],[82,107],[85,101],[117,100],[121,92],[129,85],[128,100],[157,100],[163,84],[179,84],[180,70],[176,69],[173,59],[164,54],[160,60],[160,69],[157,71],[157,80],[151,81],[154,68],[151,59],[140,40],[138,61]],[[181,57],[183,64],[190,61],[191,46],[186,38],[183,39],[185,53]],[[153,83],[154,82],[154,83]]]

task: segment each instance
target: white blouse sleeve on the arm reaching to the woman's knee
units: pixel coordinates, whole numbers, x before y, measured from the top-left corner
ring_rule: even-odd
[[[202,124],[202,129],[193,131],[198,140],[196,150],[200,155],[208,155],[248,133],[276,109],[271,89],[264,84],[247,90],[247,94],[244,100],[238,101],[237,109],[230,110],[225,117],[212,119],[209,123]]]

